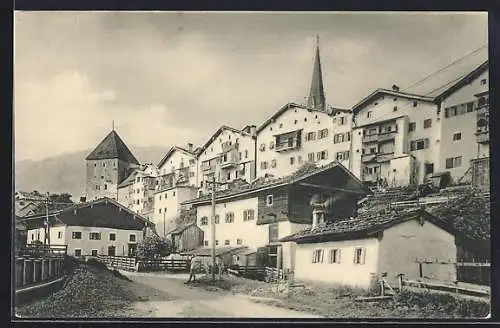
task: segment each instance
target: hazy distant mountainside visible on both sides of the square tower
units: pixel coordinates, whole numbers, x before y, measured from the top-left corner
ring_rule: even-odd
[[[157,164],[169,147],[132,146],[130,150],[141,162]],[[51,193],[67,192],[78,200],[85,191],[85,157],[91,150],[66,153],[46,159],[15,163],[15,189]]]

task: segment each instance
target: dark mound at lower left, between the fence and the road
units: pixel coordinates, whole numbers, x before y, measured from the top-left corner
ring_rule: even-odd
[[[104,318],[130,315],[134,302],[166,299],[96,263],[74,264],[65,285],[48,297],[16,307],[22,318]]]

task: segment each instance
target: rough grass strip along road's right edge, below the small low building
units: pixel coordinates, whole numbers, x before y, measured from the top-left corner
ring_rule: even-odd
[[[490,311],[488,300],[432,291],[406,290],[394,300],[356,302],[357,297],[372,292],[320,283],[287,288],[286,284],[278,286],[231,275],[215,282],[209,277],[202,277],[197,285],[210,291],[257,296],[262,298],[254,300],[257,303],[327,318],[485,318]]]

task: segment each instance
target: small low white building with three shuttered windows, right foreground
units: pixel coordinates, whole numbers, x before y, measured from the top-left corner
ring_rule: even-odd
[[[399,274],[448,282],[457,276],[453,227],[423,210],[329,217],[281,241],[297,244],[296,280],[369,288],[382,276],[392,286]]]

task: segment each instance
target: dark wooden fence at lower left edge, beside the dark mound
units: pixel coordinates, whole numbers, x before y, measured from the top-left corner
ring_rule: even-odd
[[[64,256],[16,257],[16,293],[64,277]]]

